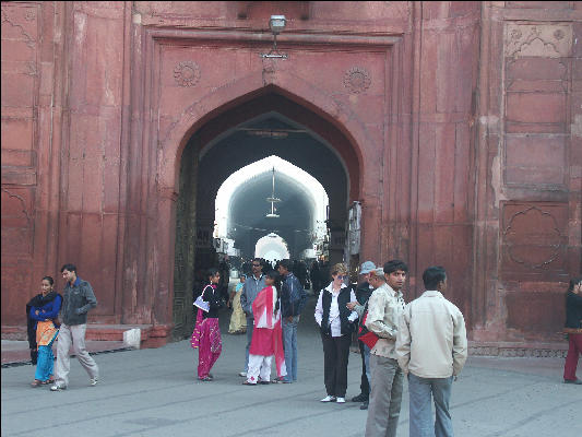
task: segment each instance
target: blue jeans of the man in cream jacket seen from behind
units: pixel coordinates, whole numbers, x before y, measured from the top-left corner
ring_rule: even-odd
[[[420,378],[408,374],[411,437],[452,437],[453,423],[449,413],[452,383],[452,376]],[[435,426],[432,426],[432,408],[430,406],[431,394],[437,410]]]

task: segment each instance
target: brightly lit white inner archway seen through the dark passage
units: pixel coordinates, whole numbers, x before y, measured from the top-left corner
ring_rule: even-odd
[[[269,202],[272,196],[275,202]],[[257,239],[274,233],[287,241],[287,257],[314,258],[313,245],[326,235],[328,206],[328,194],[314,177],[269,156],[223,182],[215,202],[214,237],[234,243],[236,255],[249,259],[256,256]]]

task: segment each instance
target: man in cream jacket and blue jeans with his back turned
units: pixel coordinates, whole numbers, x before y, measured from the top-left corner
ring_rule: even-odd
[[[396,340],[400,366],[408,376],[411,437],[452,437],[449,412],[453,377],[467,358],[465,320],[447,300],[447,273],[429,267],[423,273],[426,292],[404,309]],[[432,425],[430,397],[435,401]]]

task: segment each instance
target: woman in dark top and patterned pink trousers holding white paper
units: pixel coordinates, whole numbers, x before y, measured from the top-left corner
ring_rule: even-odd
[[[207,307],[205,304],[203,304],[204,309],[198,307],[197,324],[190,341],[192,347],[198,349],[198,379],[201,381],[212,381],[214,379],[210,370],[223,350],[221,328],[218,326],[218,309],[222,307],[222,300],[216,291],[221,273],[217,269],[209,271],[209,280],[210,284],[204,287],[201,295]]]

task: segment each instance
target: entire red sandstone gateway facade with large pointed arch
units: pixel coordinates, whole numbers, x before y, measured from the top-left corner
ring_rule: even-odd
[[[88,339],[189,335],[216,192],[276,154],[325,188],[332,262],[403,259],[409,299],[441,264],[473,353],[565,350],[562,291],[582,259],[581,3],[1,8],[2,338],[24,338],[34,279],[63,262],[99,302]],[[287,59],[261,57],[271,15],[286,17]]]

